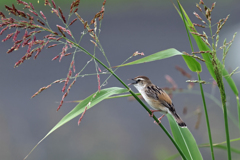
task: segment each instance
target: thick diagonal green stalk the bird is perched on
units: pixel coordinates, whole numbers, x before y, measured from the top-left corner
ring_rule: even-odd
[[[65,37],[63,37],[65,38]],[[66,39],[66,38],[65,38]],[[88,54],[89,56],[91,56],[92,58],[94,58],[99,64],[101,64],[104,68],[106,68],[120,83],[123,84],[124,87],[126,87],[129,92],[132,94],[132,96],[144,107],[145,110],[147,110],[147,112],[149,114],[152,114],[152,112],[150,111],[150,109],[140,100],[140,98],[138,98],[138,96],[110,69],[108,68],[103,62],[101,62],[98,58],[96,58],[94,55],[92,55],[91,53],[89,53],[86,49],[82,48],[81,46],[79,46],[78,44],[72,42],[71,40],[68,40],[71,43],[73,43],[76,47],[80,48],[82,51],[84,51],[86,54]],[[182,150],[180,149],[180,147],[178,146],[178,144],[176,143],[176,141],[172,138],[172,136],[170,135],[170,133],[166,130],[166,128],[159,123],[158,119],[156,116],[153,115],[153,119],[158,122],[158,125],[162,128],[162,130],[165,132],[165,134],[168,136],[168,138],[172,141],[172,143],[174,144],[174,146],[176,147],[176,149],[178,150],[178,152],[180,153],[180,155],[182,156],[182,158],[184,160],[187,160],[186,156],[183,154]]]

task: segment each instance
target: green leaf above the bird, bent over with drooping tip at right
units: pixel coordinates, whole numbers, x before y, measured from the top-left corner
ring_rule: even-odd
[[[173,57],[173,56],[177,56],[177,55],[181,55],[183,57],[184,61],[186,62],[188,68],[191,71],[193,71],[193,72],[201,72],[202,71],[201,64],[196,59],[194,59],[193,57],[190,57],[188,55],[185,55],[174,48],[166,49],[166,50],[151,54],[149,56],[146,56],[144,58],[138,59],[136,61],[122,64],[122,65],[119,65],[116,67],[123,67],[123,66],[129,66],[129,65],[134,65],[134,64],[152,62],[152,61],[161,60],[161,59],[165,59],[165,58],[169,58],[169,57]]]

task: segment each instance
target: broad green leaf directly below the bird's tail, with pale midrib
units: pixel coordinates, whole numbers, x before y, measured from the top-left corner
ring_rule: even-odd
[[[173,119],[172,115],[167,114],[173,137],[184,155],[189,160],[202,160],[202,155],[198,145],[188,128],[181,128]]]

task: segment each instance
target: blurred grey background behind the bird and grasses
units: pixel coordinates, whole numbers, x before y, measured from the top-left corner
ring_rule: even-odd
[[[31,1],[36,10],[42,10],[47,16],[50,26],[62,25],[55,14],[50,12],[44,1]],[[28,2],[28,1],[27,1]],[[175,1],[174,1],[175,2]],[[211,6],[215,1],[206,1]],[[239,31],[239,0],[217,0],[212,13],[213,22],[230,18],[220,33],[220,44],[224,38],[231,40],[234,32]],[[0,11],[6,15],[4,5],[16,4],[13,0],[1,0]],[[55,0],[67,17],[72,1]],[[193,11],[198,9],[198,1],[181,1],[191,20],[200,23]],[[22,6],[15,5],[22,10]],[[84,20],[90,21],[96,12],[101,9],[102,1],[81,0],[78,13]],[[122,63],[135,51],[149,55],[164,49],[176,48],[179,51],[191,52],[184,25],[170,1],[160,0],[107,0],[104,20],[101,27],[100,41],[112,66]],[[199,13],[199,12],[198,12]],[[54,28],[56,29],[56,27]],[[71,26],[74,36],[79,37],[83,30],[80,22]],[[14,30],[12,30],[14,31]],[[4,33],[0,40],[10,33]],[[208,32],[207,32],[208,33]],[[43,35],[42,35],[43,36]],[[37,38],[42,38],[39,36]],[[90,36],[85,36],[81,45],[90,52],[93,45],[89,42]],[[226,60],[226,67],[230,71],[239,66],[239,42],[237,35]],[[0,157],[1,159],[23,159],[36,143],[76,104],[64,103],[56,112],[61,100],[63,84],[55,84],[37,97],[30,97],[41,87],[46,86],[56,79],[64,78],[68,72],[71,57],[64,57],[62,62],[51,61],[60,51],[61,47],[47,49],[40,53],[36,60],[25,61],[18,68],[13,68],[26,52],[26,48],[7,55],[5,52],[12,46],[10,41],[0,43]],[[196,49],[196,48],[195,48]],[[100,59],[104,59],[100,52]],[[219,56],[221,52],[219,52]],[[134,57],[135,60],[139,57]],[[79,71],[90,58],[80,53],[76,57],[76,70]],[[187,80],[176,69],[181,66],[190,73],[181,57],[173,57],[153,63],[120,68],[117,74],[128,83],[129,78],[138,75],[148,76],[153,83],[160,87],[170,87],[165,80],[165,75],[170,75],[179,88],[187,89]],[[212,82],[210,74],[202,63],[203,80]],[[84,73],[94,73],[94,63],[86,68]],[[191,73],[193,79],[197,75]],[[103,80],[106,76],[101,76]],[[233,75],[238,88],[240,88],[240,74]],[[114,78],[108,81],[105,87],[119,86],[121,84]],[[136,91],[134,88],[132,88]],[[66,101],[84,99],[97,90],[96,76],[79,78],[73,86]],[[195,85],[193,90],[199,90]],[[211,84],[204,85],[204,91],[219,99],[217,89]],[[228,107],[230,112],[237,117],[236,100],[231,89],[226,84]],[[212,128],[213,142],[225,141],[224,121],[222,110],[210,99],[206,99]],[[195,129],[197,115],[196,109],[202,109],[201,97],[198,94],[173,94],[173,103],[179,115],[188,125],[198,144],[207,143],[205,117],[202,114],[200,126]],[[183,108],[187,107],[187,114]],[[161,114],[156,114],[160,116]],[[82,159],[82,160],[129,160],[129,159],[157,159],[162,160],[177,153],[170,140],[163,131],[153,123],[146,111],[136,101],[127,98],[105,100],[88,110],[80,124],[78,118],[64,125],[44,140],[29,156],[28,159]],[[162,123],[170,130],[167,118]],[[231,139],[239,137],[239,130],[229,120]],[[238,142],[232,143],[233,147],[240,148]],[[204,159],[210,159],[210,149],[200,149]],[[216,159],[226,159],[226,151],[215,149]],[[233,159],[239,155],[233,153]],[[180,159],[180,158],[178,158]]]

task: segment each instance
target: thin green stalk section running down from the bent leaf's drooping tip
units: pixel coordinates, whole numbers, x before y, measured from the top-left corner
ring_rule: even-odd
[[[198,73],[198,80],[201,81],[201,77],[200,77],[199,73]],[[208,138],[209,138],[209,144],[210,144],[210,148],[211,148],[211,156],[212,156],[212,160],[214,160],[215,157],[214,157],[214,151],[213,151],[212,134],[211,134],[211,128],[210,128],[210,123],[209,123],[209,119],[208,119],[208,111],[207,111],[206,101],[205,101],[205,97],[204,97],[202,84],[199,83],[199,86],[200,86],[200,90],[201,90],[203,107],[204,107],[205,118],[206,118],[206,123],[207,123]]]

